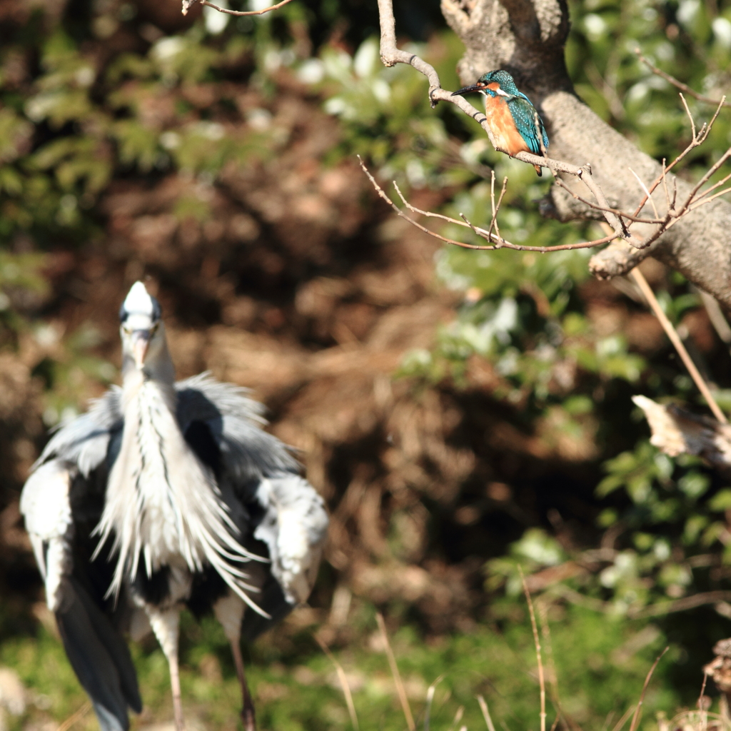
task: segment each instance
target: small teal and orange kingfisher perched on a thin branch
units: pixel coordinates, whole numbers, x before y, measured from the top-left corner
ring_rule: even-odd
[[[543,149],[548,148],[548,135],[543,120],[531,100],[518,91],[515,80],[507,71],[488,71],[480,76],[477,83],[455,91],[452,96],[463,96],[471,91],[479,91],[485,95],[485,116],[490,129],[499,147],[511,157],[519,152],[543,154],[539,131],[543,138]],[[533,167],[540,175],[541,166]]]

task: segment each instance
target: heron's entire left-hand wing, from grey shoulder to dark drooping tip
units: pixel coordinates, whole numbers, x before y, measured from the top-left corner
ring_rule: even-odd
[[[119,629],[121,610],[104,595],[107,557],[91,561],[101,515],[107,452],[114,440],[114,395],[61,428],[20,496],[20,512],[45,581],[48,607],[69,661],[94,704],[102,731],[126,731],[128,706],[142,710],[137,675]]]

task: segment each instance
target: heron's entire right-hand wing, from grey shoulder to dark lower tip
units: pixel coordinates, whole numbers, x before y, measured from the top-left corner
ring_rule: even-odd
[[[327,536],[325,503],[298,474],[287,445],[262,431],[262,406],[243,389],[208,374],[176,388],[181,430],[216,474],[242,542],[268,554],[252,599],[269,617],[246,613],[243,633],[251,639],[309,596]]]

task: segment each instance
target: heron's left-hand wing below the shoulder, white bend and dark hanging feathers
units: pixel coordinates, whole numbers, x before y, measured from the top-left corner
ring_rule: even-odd
[[[48,607],[56,615],[69,661],[94,703],[102,731],[129,728],[127,706],[142,709],[129,650],[89,588],[88,561],[75,561],[80,539],[72,489],[86,481],[72,463],[51,459],[31,474],[20,512],[45,580]]]

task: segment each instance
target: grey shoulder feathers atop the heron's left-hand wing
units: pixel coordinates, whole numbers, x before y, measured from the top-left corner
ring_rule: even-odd
[[[88,477],[107,456],[110,436],[122,428],[121,389],[113,386],[101,398],[91,401],[88,412],[62,426],[51,437],[36,466],[58,458],[74,464]]]

